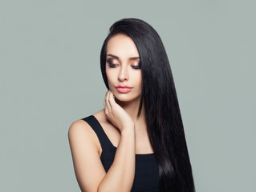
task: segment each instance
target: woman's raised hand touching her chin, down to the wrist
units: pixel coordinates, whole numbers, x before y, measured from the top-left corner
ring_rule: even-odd
[[[105,114],[110,122],[122,133],[126,129],[134,129],[131,116],[116,103],[111,90],[108,90],[104,100]]]

